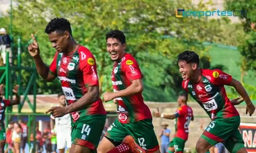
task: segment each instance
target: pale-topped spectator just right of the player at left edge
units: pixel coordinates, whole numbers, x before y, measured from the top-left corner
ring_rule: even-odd
[[[22,128],[20,124],[15,122],[12,129],[12,142],[14,147],[13,153],[20,153],[20,141],[21,141]]]

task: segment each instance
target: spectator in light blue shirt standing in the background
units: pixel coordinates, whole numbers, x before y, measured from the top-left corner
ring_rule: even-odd
[[[159,134],[159,138],[161,138],[161,152],[168,152],[168,145],[170,143],[170,133],[171,130],[167,129],[169,125],[166,123],[162,124],[163,129],[161,130],[161,133]]]

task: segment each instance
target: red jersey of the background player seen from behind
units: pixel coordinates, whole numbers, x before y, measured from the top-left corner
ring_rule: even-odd
[[[189,122],[193,118],[193,110],[188,105],[183,105],[175,112],[175,137],[188,140]]]

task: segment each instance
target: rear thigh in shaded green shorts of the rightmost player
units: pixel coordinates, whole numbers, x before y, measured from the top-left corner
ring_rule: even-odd
[[[244,140],[238,129],[234,129],[232,135],[223,144],[230,153],[236,153],[244,149]]]

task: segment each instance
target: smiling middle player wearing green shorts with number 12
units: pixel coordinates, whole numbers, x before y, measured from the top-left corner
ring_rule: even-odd
[[[109,127],[97,151],[160,152],[152,115],[143,101],[143,75],[138,62],[125,52],[124,33],[110,31],[106,34],[106,43],[111,60],[115,61],[111,73],[114,92],[105,93],[104,101],[115,99],[118,119]]]

